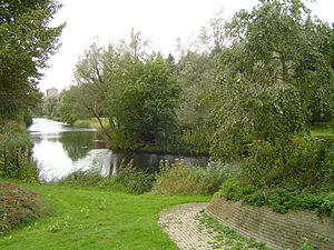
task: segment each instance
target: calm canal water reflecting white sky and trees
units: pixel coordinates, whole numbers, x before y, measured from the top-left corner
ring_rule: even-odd
[[[121,162],[132,160],[138,169],[155,172],[161,160],[176,159],[190,166],[204,167],[206,157],[111,151],[97,138],[95,129],[73,128],[67,123],[35,118],[28,128],[33,143],[32,154],[38,162],[39,178],[52,181],[75,171],[96,170],[102,177],[116,174]]]

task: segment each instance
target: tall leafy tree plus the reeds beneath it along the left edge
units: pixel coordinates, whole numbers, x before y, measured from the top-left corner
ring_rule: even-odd
[[[41,69],[59,46],[63,26],[49,27],[59,8],[52,0],[0,1],[0,176],[31,177],[23,121],[40,99]]]

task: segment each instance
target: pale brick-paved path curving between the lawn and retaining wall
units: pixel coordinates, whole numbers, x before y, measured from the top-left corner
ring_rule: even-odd
[[[214,248],[216,242],[214,233],[200,229],[199,222],[195,219],[198,212],[208,203],[187,203],[164,209],[159,213],[158,224],[179,249],[185,250],[208,250]]]

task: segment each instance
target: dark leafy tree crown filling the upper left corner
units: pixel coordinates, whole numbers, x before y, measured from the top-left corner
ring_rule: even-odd
[[[0,119],[18,117],[40,98],[39,70],[56,52],[63,27],[49,27],[59,8],[53,0],[0,2]]]

